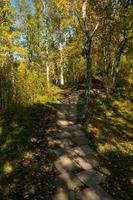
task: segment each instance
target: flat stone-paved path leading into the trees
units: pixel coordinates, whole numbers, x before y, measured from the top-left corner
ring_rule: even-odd
[[[96,170],[98,158],[89,147],[89,140],[76,123],[78,94],[61,99],[58,103],[58,133],[52,139],[57,159],[54,162],[57,188],[53,200],[112,200],[99,185],[105,181]]]

